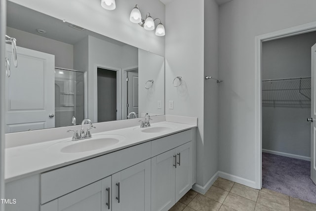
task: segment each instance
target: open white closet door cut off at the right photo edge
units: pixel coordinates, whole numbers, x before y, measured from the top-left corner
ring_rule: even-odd
[[[312,46],[312,94],[311,94],[311,179],[316,184],[316,44]]]

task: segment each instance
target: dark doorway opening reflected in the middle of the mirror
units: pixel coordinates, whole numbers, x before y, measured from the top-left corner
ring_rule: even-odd
[[[117,71],[97,68],[97,118],[98,122],[117,120],[118,113]]]

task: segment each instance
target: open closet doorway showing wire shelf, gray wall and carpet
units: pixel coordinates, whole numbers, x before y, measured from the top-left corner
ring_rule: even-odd
[[[316,203],[311,172],[311,47],[316,32],[262,43],[262,187]],[[302,191],[304,190],[304,191]]]

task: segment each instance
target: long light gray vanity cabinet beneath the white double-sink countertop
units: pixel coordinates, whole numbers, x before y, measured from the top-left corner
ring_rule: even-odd
[[[195,183],[195,130],[7,182],[6,211],[167,211]]]

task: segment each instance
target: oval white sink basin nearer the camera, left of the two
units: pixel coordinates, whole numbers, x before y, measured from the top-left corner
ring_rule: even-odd
[[[122,136],[123,137],[123,136]],[[79,153],[79,152],[87,152],[97,149],[102,149],[105,147],[112,146],[117,144],[119,141],[122,140],[122,137],[104,137],[104,136],[97,136],[92,137],[91,139],[85,139],[82,142],[74,143],[62,148],[60,151],[62,153]]]

